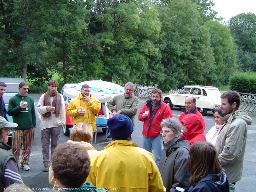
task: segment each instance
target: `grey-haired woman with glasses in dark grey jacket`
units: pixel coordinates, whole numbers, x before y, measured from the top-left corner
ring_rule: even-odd
[[[189,143],[180,138],[181,124],[178,119],[168,118],[161,122],[164,149],[158,165],[166,192],[175,191],[176,187],[186,189],[189,173],[186,169]]]

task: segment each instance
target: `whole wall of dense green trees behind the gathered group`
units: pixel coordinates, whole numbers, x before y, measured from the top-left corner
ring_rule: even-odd
[[[237,68],[256,70],[255,15],[237,15],[225,26],[211,0],[0,5],[0,76],[22,76],[36,86],[58,74],[60,84],[101,78],[158,84],[165,91],[218,86]]]

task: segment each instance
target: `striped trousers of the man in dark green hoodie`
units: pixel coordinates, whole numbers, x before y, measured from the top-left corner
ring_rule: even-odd
[[[20,164],[28,164],[31,148],[34,140],[35,127],[28,129],[13,129],[12,132],[12,154],[18,164],[21,149]]]

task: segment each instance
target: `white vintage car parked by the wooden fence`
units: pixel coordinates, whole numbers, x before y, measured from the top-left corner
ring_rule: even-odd
[[[190,95],[196,98],[196,107],[202,115],[206,115],[208,110],[220,107],[220,90],[212,86],[186,85],[179,93],[163,96],[163,101],[171,109],[173,107],[184,108],[185,98]]]

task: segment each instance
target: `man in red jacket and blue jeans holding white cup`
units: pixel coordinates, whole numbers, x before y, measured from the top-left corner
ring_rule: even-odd
[[[140,109],[139,120],[143,121],[142,130],[142,148],[152,153],[156,165],[160,162],[160,156],[163,149],[163,139],[160,135],[162,128],[160,126],[163,119],[173,117],[170,107],[162,101],[162,91],[154,89],[151,93],[151,99],[147,100]]]

